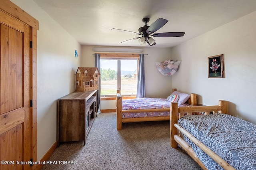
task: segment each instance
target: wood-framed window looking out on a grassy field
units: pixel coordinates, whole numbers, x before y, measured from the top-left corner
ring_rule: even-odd
[[[100,56],[101,96],[136,95],[138,77],[138,55],[136,57]]]

